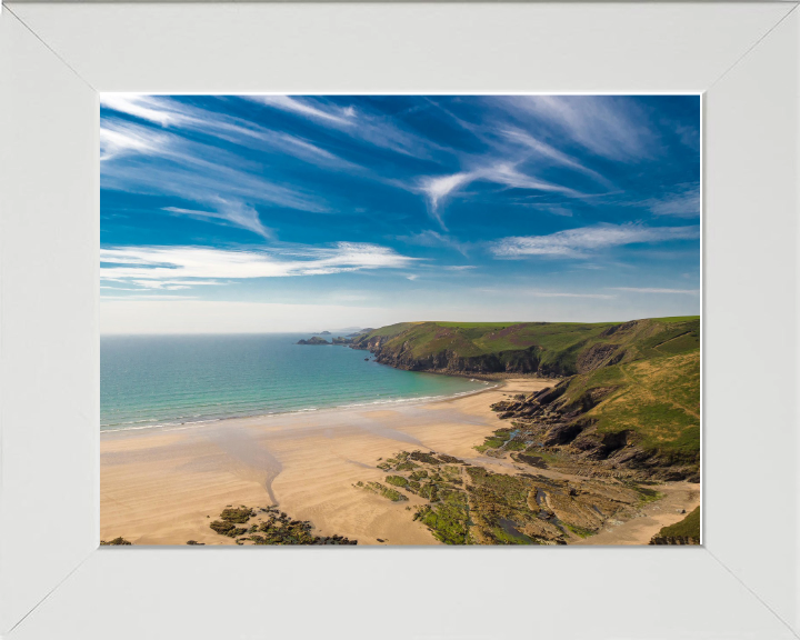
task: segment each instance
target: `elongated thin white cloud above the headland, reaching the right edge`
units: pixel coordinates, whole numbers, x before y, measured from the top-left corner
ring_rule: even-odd
[[[498,258],[550,256],[586,258],[592,251],[623,244],[686,240],[699,237],[698,227],[644,227],[643,224],[597,224],[558,231],[549,236],[520,236],[498,240],[490,250]]]

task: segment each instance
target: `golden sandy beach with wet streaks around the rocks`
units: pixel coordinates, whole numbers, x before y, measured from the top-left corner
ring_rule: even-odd
[[[341,534],[359,544],[438,544],[404,502],[357,489],[381,481],[376,467],[406,449],[434,450],[488,469],[516,473],[510,459],[473,448],[501,424],[490,404],[552,380],[509,379],[471,396],[427,403],[331,409],[230,419],[207,424],[101,433],[101,531],[133,544],[236,544],[209,522],[228,506],[277,504],[309,520],[314,533]],[[563,478],[556,471],[546,471]],[[664,498],[638,517],[611,523],[582,543],[647,543],[666,524],[699,503],[699,486],[670,482]]]

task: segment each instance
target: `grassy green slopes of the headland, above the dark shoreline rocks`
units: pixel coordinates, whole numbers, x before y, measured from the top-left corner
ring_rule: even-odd
[[[402,322],[353,342],[382,341],[383,354],[420,361],[513,362],[527,353],[539,371],[568,377],[561,406],[578,408],[599,433],[634,434],[644,450],[694,460],[700,448],[700,318],[629,322]],[[594,402],[592,398],[601,398]]]

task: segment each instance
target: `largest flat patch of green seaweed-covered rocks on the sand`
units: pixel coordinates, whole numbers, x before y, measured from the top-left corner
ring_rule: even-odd
[[[500,473],[437,451],[399,451],[377,468],[388,473],[386,484],[353,487],[393,502],[413,500],[407,507],[413,520],[446,544],[570,544],[661,497],[630,481]]]

